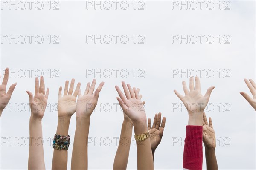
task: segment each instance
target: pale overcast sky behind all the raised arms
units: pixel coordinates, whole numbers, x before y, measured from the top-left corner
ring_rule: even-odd
[[[123,120],[114,86],[121,81],[140,88],[148,118],[158,112],[166,116],[155,169],[182,169],[188,114],[173,90],[183,94],[182,81],[189,83],[195,74],[203,94],[215,86],[205,111],[216,133],[219,169],[256,169],[255,110],[239,94],[250,94],[244,78],[256,79],[255,1],[182,1],[185,6],[171,0],[101,1],[102,9],[85,0],[15,2],[1,0],[0,10],[1,78],[9,67],[8,87],[17,82],[0,119],[1,169],[27,169],[26,90],[34,93],[35,76],[42,73],[50,89],[42,120],[47,169],[58,123],[58,88],[72,78],[81,82],[82,91],[93,78],[97,85],[105,81],[90,119],[89,169],[113,167]],[[73,115],[68,169],[75,128]],[[128,169],[137,169],[134,141]]]

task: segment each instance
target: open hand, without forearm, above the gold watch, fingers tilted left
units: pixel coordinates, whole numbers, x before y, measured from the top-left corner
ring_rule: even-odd
[[[127,84],[126,86],[124,81],[122,81],[122,86],[125,95],[122,93],[121,89],[118,86],[115,86],[116,91],[120,96],[120,98],[117,97],[117,100],[122,107],[122,110],[126,115],[128,115],[129,118],[131,118],[131,121],[133,121],[134,124],[146,122],[147,117],[144,110],[143,102],[140,100],[138,90],[132,89],[130,84]]]

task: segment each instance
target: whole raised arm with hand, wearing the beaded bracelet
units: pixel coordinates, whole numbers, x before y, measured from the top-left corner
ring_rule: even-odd
[[[58,126],[56,135],[68,137],[68,129],[71,116],[76,111],[76,97],[80,89],[80,83],[77,84],[76,90],[73,94],[75,79],[72,79],[70,88],[68,89],[69,82],[66,81],[64,95],[61,95],[62,87],[59,88],[58,94]],[[72,95],[73,94],[73,95]],[[66,170],[67,169],[67,149],[68,144],[63,144],[60,140],[54,140],[55,149],[53,151],[52,169],[53,170]],[[63,149],[65,147],[65,149]],[[62,150],[63,149],[63,150]]]

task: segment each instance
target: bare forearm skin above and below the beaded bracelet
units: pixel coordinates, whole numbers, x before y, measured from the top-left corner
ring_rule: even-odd
[[[57,135],[68,135],[68,129],[71,117],[58,118]],[[67,150],[56,150],[53,151],[52,158],[52,169],[53,170],[64,170],[67,169]]]

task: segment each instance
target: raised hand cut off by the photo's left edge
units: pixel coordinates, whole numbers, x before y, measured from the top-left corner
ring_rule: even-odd
[[[3,109],[7,106],[8,102],[11,99],[12,92],[15,89],[17,83],[12,84],[6,93],[6,86],[9,79],[9,68],[6,68],[5,74],[3,77],[3,82],[0,84],[0,116],[2,115]]]

